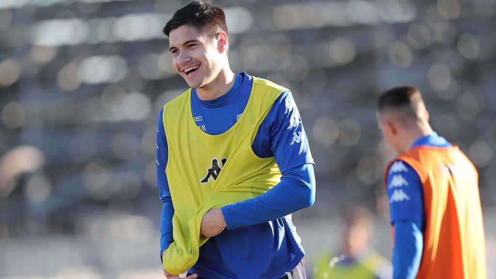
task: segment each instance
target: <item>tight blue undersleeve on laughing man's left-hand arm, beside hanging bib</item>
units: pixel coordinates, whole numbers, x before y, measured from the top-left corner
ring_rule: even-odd
[[[162,208],[162,216],[160,218],[160,258],[162,252],[169,248],[169,245],[174,241],[172,236],[172,217],[174,216],[174,206],[172,205],[171,193],[169,190],[159,189],[159,197],[164,207]]]

